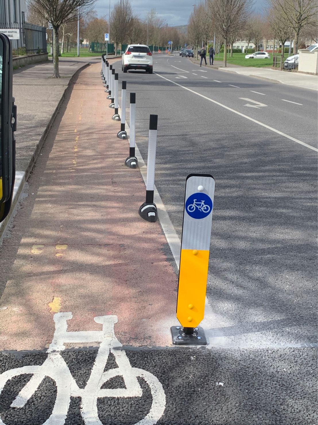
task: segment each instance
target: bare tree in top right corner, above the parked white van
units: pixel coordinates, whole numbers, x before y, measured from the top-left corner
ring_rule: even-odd
[[[293,54],[296,54],[301,30],[306,26],[317,25],[317,0],[268,0],[268,3],[293,29]]]

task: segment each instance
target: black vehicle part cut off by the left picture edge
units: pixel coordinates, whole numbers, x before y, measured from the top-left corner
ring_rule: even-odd
[[[17,107],[12,98],[12,49],[0,33],[0,222],[10,211],[15,178]]]

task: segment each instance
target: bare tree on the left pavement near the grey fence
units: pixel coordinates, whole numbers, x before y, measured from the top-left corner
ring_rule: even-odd
[[[53,26],[53,78],[59,74],[59,28],[62,24],[74,22],[79,15],[90,10],[95,0],[29,0],[33,10]]]

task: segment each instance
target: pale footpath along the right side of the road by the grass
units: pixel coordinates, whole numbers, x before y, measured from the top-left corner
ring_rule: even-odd
[[[261,60],[261,59],[259,59]],[[200,64],[200,60],[191,59],[195,64]],[[279,71],[272,68],[256,68],[254,66],[239,66],[229,64],[223,67],[223,61],[214,60],[213,65],[209,65],[209,57],[206,57],[207,67],[218,69],[219,71],[232,72],[234,74],[255,77],[281,84],[292,85],[293,87],[307,88],[309,90],[318,90],[318,77],[316,75],[301,74],[290,71]]]

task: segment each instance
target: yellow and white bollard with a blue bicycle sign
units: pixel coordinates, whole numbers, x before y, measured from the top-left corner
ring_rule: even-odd
[[[206,344],[198,325],[204,317],[214,189],[209,174],[187,176],[177,300],[181,326],[171,328],[173,344]]]

